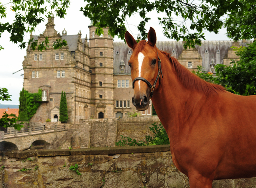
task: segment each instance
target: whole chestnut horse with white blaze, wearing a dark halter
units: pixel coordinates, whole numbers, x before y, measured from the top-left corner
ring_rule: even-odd
[[[156,48],[153,28],[148,41],[137,44],[128,31],[125,39],[133,50],[132,102],[146,110],[154,90],[152,102],[168,134],[173,163],[188,176],[190,188],[256,177],[256,96],[235,95],[198,78]]]

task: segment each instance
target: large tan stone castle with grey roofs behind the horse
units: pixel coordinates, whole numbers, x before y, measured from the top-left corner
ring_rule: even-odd
[[[66,92],[68,123],[78,124],[81,119],[122,117],[126,112],[136,110],[132,105],[132,79],[128,60],[132,54],[124,42],[113,42],[113,37],[104,28],[104,34],[95,34],[91,23],[89,41],[76,35],[62,34],[54,29],[54,16],[48,18],[46,30],[30,38],[44,41],[52,46],[56,39],[66,40],[68,46],[54,50],[27,49],[24,57],[24,89],[38,92],[42,89],[42,101],[30,122],[58,121],[61,92]],[[246,41],[203,41],[202,46],[184,50],[182,42],[157,42],[164,50],[190,70],[202,65],[206,71],[214,72],[214,65],[230,63],[237,59],[231,46],[245,46]],[[152,104],[142,115],[152,115]]]

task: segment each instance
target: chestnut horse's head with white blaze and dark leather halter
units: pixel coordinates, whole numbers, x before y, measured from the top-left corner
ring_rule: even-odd
[[[161,62],[156,48],[156,32],[150,27],[148,41],[141,40],[137,43],[133,36],[126,31],[125,39],[133,51],[128,62],[134,88],[132,104],[139,111],[147,110],[149,100],[154,89],[157,88],[157,81],[160,77]]]

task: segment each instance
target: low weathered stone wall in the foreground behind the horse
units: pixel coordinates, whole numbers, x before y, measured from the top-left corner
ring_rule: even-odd
[[[81,175],[69,170],[75,164]],[[0,188],[189,188],[169,145],[12,151],[2,153],[0,165]],[[22,168],[28,170],[19,172]],[[213,183],[213,188],[255,186],[256,178]]]

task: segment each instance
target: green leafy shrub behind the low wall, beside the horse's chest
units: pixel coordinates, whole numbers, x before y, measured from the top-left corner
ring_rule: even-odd
[[[159,126],[154,122],[153,127],[150,127],[150,130],[153,132],[152,136],[146,136],[146,142],[139,140],[138,142],[135,139],[124,137],[122,135],[121,139],[116,142],[116,146],[148,146],[148,145],[162,145],[170,144],[168,135],[164,129],[164,126],[160,123]]]

